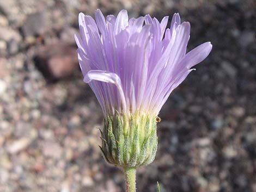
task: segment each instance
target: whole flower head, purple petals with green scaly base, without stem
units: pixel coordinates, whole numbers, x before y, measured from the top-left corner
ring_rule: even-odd
[[[105,115],[102,151],[109,163],[150,163],[157,146],[155,117],[170,93],[211,51],[210,42],[186,53],[190,23],[174,14],[161,22],[150,15],[117,17],[96,10],[95,20],[79,14],[75,35],[84,76]]]

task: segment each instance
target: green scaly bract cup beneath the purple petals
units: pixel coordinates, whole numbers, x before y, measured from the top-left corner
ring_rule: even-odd
[[[108,163],[127,167],[148,165],[157,150],[156,117],[108,115],[101,131],[101,150]]]

